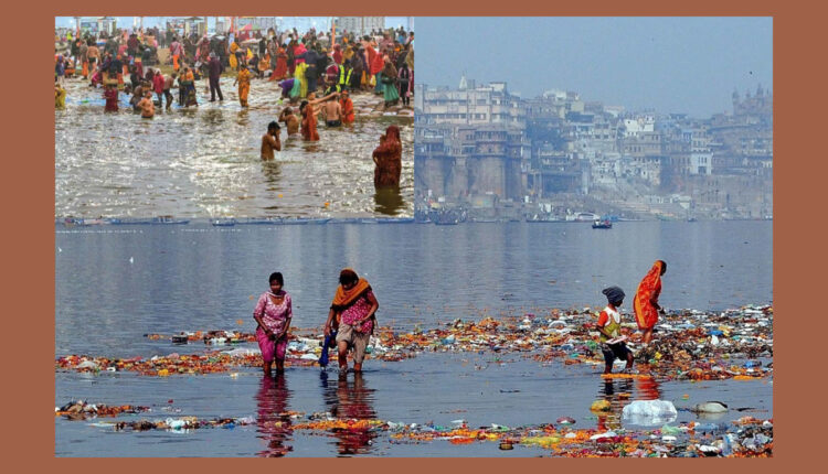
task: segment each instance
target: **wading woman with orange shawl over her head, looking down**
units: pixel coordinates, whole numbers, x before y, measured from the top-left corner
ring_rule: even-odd
[[[362,371],[365,347],[376,325],[375,313],[380,308],[371,286],[350,268],[339,273],[339,287],[333,297],[325,335],[337,330],[339,369],[348,370],[348,349],[353,349],[353,371]]]

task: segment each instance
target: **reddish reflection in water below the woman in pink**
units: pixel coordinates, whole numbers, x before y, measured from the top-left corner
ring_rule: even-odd
[[[293,451],[294,448],[286,444],[294,432],[290,428],[290,414],[287,412],[289,399],[290,390],[287,389],[284,374],[277,374],[275,378],[268,375],[262,377],[262,385],[256,394],[256,438],[264,440],[267,448],[257,455],[280,457]]]

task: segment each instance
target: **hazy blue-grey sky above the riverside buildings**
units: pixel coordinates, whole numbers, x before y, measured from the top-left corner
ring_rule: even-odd
[[[417,18],[416,80],[710,117],[773,89],[772,18]]]

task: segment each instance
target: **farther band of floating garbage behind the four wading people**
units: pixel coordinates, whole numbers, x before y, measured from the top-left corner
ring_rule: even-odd
[[[369,345],[369,358],[397,362],[425,352],[516,354],[540,363],[562,360],[564,365],[603,366],[603,355],[595,331],[597,317],[591,309],[534,310],[532,313],[486,315],[478,321],[457,319],[424,330],[395,332],[378,327]],[[763,323],[763,324],[760,324]],[[527,330],[527,326],[529,330]],[[773,308],[743,306],[721,313],[680,310],[662,317],[662,328],[647,347],[639,347],[640,334],[627,324],[628,345],[633,348],[640,374],[611,374],[607,378],[658,378],[659,380],[757,380],[773,374],[773,365],[763,366],[762,357],[773,356]],[[532,330],[534,328],[534,330]],[[715,331],[716,334],[710,334]],[[237,331],[195,331],[176,335],[147,334],[151,341],[171,343],[202,342],[220,348],[226,344],[255,344],[255,334]],[[712,343],[712,337],[718,343]],[[288,366],[318,367],[323,335],[318,328],[291,327],[288,335]],[[255,345],[253,345],[255,347]],[[744,360],[747,362],[744,362]],[[117,359],[68,355],[55,360],[57,369],[76,371],[132,370],[141,375],[185,375],[226,371],[238,366],[261,367],[257,348],[241,353],[206,351],[177,359],[140,357]],[[167,370],[162,373],[161,370]]]

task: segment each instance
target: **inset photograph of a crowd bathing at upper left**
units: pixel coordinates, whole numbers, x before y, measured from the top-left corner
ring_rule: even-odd
[[[411,218],[413,26],[55,18],[55,216]]]

